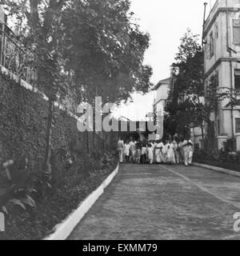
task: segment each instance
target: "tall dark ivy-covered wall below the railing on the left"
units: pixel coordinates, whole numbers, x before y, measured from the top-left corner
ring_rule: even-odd
[[[0,162],[26,156],[30,169],[41,170],[46,150],[48,102],[0,74]],[[77,120],[56,108],[54,150],[78,142],[86,150],[86,134],[77,130]]]

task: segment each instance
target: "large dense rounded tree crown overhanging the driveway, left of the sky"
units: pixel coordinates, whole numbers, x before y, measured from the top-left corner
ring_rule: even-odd
[[[134,24],[129,1],[72,2],[63,23],[66,69],[76,74],[87,101],[97,94],[118,102],[150,89],[152,70],[142,64],[150,39]]]

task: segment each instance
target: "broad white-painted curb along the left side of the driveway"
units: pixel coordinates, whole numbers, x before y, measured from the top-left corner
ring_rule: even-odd
[[[118,174],[118,170],[119,164],[117,168],[108,176],[108,178],[102,182],[98,189],[90,194],[83,202],[81,202],[78,209],[74,210],[62,223],[55,226],[55,231],[53,234],[50,234],[50,236],[44,238],[43,240],[65,240],[68,238],[68,236],[74,230],[74,227],[78,225],[85,214],[103,194],[106,187],[110,185],[110,182],[112,182],[116,174]]]

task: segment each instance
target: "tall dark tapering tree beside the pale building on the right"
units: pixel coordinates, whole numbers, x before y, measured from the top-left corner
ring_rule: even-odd
[[[190,124],[202,126],[205,118],[203,52],[198,35],[187,30],[172,66],[174,83],[166,102],[166,127],[171,127],[172,135],[178,133],[186,137],[189,136]]]

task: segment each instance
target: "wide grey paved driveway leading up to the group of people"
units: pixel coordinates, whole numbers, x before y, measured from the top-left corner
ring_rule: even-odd
[[[122,165],[69,239],[240,239],[240,178],[201,167]]]

